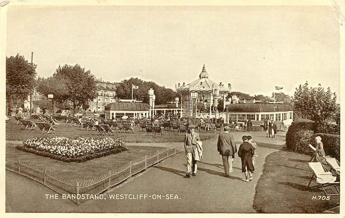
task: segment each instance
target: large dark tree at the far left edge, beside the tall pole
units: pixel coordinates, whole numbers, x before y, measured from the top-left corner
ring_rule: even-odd
[[[24,56],[6,57],[6,104],[27,99],[36,85],[35,78],[36,65]]]

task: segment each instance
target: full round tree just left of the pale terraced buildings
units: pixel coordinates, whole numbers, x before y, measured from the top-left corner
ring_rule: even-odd
[[[95,77],[90,70],[85,71],[80,65],[59,66],[56,76],[61,76],[66,81],[67,99],[73,102],[73,113],[77,112],[77,106],[86,105],[91,99],[97,97]]]

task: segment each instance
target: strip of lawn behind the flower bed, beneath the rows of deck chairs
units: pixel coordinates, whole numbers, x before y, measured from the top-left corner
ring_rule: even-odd
[[[36,120],[32,120],[33,122],[36,122]],[[61,125],[57,125],[55,128],[56,134],[43,134],[38,128],[35,130],[25,130],[25,127],[22,124],[14,124],[16,121],[12,118],[8,123],[6,123],[6,140],[11,141],[23,141],[28,138],[33,137],[40,137],[40,136],[48,136],[48,137],[54,137],[54,136],[65,136],[68,138],[78,138],[80,136],[82,137],[95,137],[95,138],[103,138],[104,135],[97,135],[97,131],[86,131],[82,127],[75,127],[72,126],[71,123],[65,123],[59,121]],[[178,131],[171,131],[171,130],[164,130],[163,135],[147,135],[145,131],[142,131],[140,127],[133,127],[134,133],[123,133],[120,132],[120,130],[114,129],[115,135],[108,135],[108,137],[115,138],[115,139],[121,139],[125,142],[130,143],[150,143],[150,142],[183,142],[184,135],[178,134]],[[216,131],[208,131],[203,132],[203,134],[200,135],[201,140],[207,140],[214,138],[216,135]]]

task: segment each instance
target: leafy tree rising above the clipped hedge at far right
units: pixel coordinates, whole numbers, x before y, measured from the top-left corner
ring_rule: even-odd
[[[336,103],[336,98],[329,87],[325,91],[321,84],[313,88],[308,87],[308,82],[306,82],[303,86],[299,85],[296,88],[293,98],[294,110],[302,118],[313,120],[318,132],[327,133],[329,122],[337,116],[339,105]]]

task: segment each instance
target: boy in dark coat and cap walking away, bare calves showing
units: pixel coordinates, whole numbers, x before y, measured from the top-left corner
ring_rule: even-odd
[[[246,177],[244,181],[249,182],[253,180],[252,173],[254,173],[254,165],[253,165],[252,156],[254,155],[255,150],[252,144],[248,142],[248,137],[246,135],[242,137],[242,140],[243,140],[243,143],[239,146],[238,156],[241,158],[242,172],[244,173]],[[249,174],[249,181],[248,181],[247,172]]]

